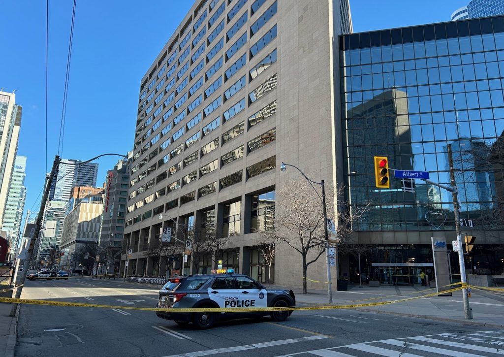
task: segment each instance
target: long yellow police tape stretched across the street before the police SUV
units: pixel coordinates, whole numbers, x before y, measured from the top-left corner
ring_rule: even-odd
[[[449,290],[444,290],[443,293],[457,291],[462,287],[456,287]],[[64,307],[83,307],[83,308],[105,308],[105,309],[122,309],[122,310],[140,310],[140,311],[164,311],[173,313],[192,313],[192,312],[259,312],[259,311],[306,311],[306,310],[336,310],[336,309],[358,309],[363,307],[374,307],[381,305],[390,305],[402,303],[406,301],[424,298],[425,296],[437,295],[437,292],[425,294],[422,296],[415,296],[413,298],[406,298],[400,300],[391,300],[380,303],[367,303],[367,304],[354,304],[354,305],[323,305],[323,306],[310,306],[310,307],[282,307],[282,308],[198,308],[198,309],[161,309],[161,308],[140,308],[130,306],[113,306],[113,305],[98,305],[98,304],[81,304],[70,302],[58,302],[48,300],[29,300],[29,299],[12,299],[0,298],[0,302],[5,303],[19,303],[30,305],[49,305],[49,306],[64,306]]]

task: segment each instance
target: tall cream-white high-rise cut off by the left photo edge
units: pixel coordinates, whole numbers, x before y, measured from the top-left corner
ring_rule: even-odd
[[[22,107],[16,94],[0,90],[0,229],[3,229],[5,206],[18,152]],[[5,229],[3,229],[5,230]]]

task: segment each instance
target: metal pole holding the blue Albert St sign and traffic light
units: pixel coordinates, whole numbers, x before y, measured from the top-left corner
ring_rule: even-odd
[[[455,169],[453,167],[452,145],[448,145],[448,164],[450,166],[450,179],[452,182],[453,213],[455,215],[455,232],[457,233],[457,242],[459,243],[459,266],[460,280],[462,283],[462,300],[464,302],[464,315],[467,320],[472,319],[471,309],[469,308],[469,297],[467,296],[467,278],[464,264],[464,248],[462,248],[462,235],[460,234],[459,218],[459,200],[457,197],[457,183],[455,181]]]

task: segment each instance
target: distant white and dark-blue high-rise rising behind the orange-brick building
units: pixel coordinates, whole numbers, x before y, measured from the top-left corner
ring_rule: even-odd
[[[49,191],[50,200],[70,201],[72,188],[76,186],[96,187],[98,164],[74,159],[61,159],[58,175]]]

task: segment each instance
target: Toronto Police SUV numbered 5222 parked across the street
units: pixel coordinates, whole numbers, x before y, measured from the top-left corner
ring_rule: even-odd
[[[285,321],[292,311],[235,312],[233,308],[295,307],[292,290],[267,289],[256,280],[234,274],[233,269],[212,270],[212,274],[170,278],[159,290],[156,315],[183,325],[210,328],[217,320],[257,318],[271,315],[275,321]],[[176,309],[226,308],[229,312],[177,312]],[[166,310],[165,310],[166,309]]]

